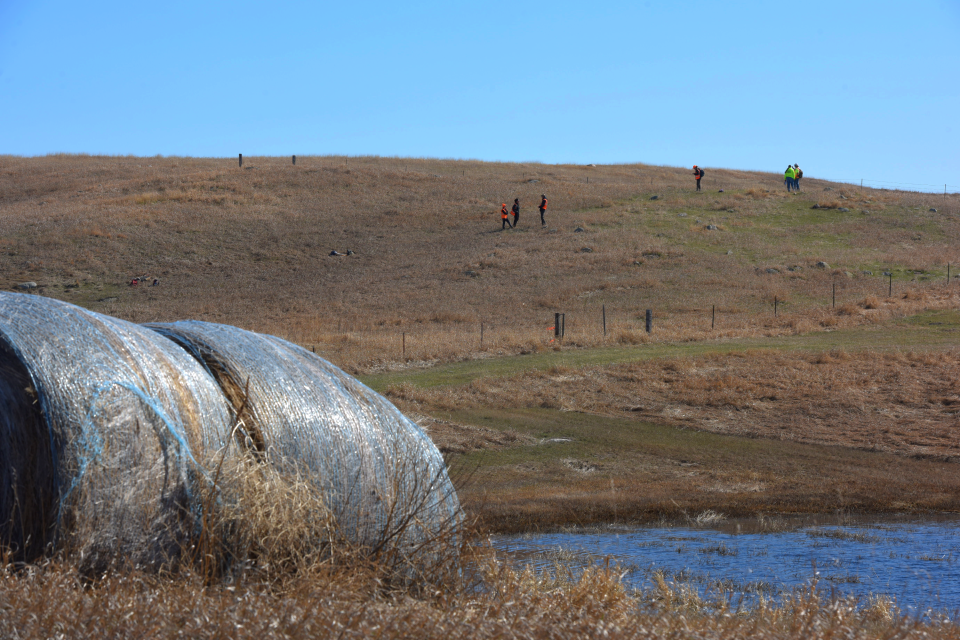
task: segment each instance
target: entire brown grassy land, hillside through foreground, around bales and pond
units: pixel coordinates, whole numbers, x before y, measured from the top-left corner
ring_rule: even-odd
[[[960,196],[707,170],[695,193],[647,165],[0,156],[0,288],[316,350],[427,429],[483,532],[960,511]],[[413,588],[356,555],[232,582],[7,564],[0,636],[960,635],[883,599],[742,612],[468,546]]]

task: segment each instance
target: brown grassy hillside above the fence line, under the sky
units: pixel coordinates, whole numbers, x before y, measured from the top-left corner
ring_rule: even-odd
[[[540,350],[556,312],[581,346],[857,323],[882,272],[903,292],[957,261],[957,196],[810,177],[788,195],[776,174],[707,171],[696,193],[689,170],[646,165],[4,156],[0,286],[237,324],[358,372]],[[143,275],[159,285],[129,286]],[[826,317],[834,286],[847,311]]]

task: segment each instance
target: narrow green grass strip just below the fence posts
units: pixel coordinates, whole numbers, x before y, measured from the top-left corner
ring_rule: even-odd
[[[467,384],[481,377],[506,378],[554,366],[588,367],[642,362],[655,358],[682,358],[725,354],[751,349],[778,351],[923,350],[952,347],[960,341],[960,312],[924,313],[885,325],[866,325],[839,331],[816,331],[773,338],[661,343],[642,346],[614,346],[599,349],[562,349],[529,355],[469,360],[417,369],[360,376],[364,384],[383,391],[390,385],[442,387]]]

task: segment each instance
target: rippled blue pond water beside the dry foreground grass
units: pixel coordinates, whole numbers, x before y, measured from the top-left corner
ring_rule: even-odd
[[[960,610],[960,520],[859,524],[730,522],[720,528],[606,528],[498,536],[494,546],[538,567],[618,564],[632,587],[668,581],[701,595],[731,594],[749,604],[776,599],[814,579],[838,595],[891,598],[902,610]],[[761,525],[761,526],[758,526]]]

